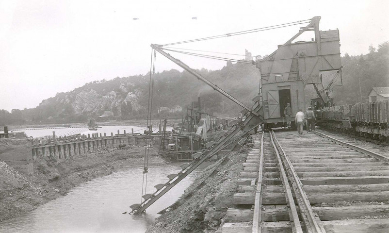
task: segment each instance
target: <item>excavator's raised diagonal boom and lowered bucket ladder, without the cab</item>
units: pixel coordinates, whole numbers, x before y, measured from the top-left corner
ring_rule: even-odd
[[[151,204],[153,204],[156,200],[161,198],[165,193],[167,193],[171,188],[173,188],[177,183],[179,183],[181,180],[183,180],[187,175],[189,175],[192,171],[196,169],[200,164],[202,164],[204,161],[206,161],[208,158],[211,158],[214,154],[219,152],[220,150],[223,150],[227,146],[234,143],[236,140],[232,140],[231,138],[243,130],[244,134],[249,133],[256,127],[258,127],[263,122],[263,108],[260,105],[259,101],[255,103],[253,108],[250,108],[240,102],[239,100],[235,99],[231,95],[229,95],[227,92],[219,88],[217,85],[211,83],[204,77],[202,77],[200,74],[198,74],[195,70],[193,70],[191,67],[187,66],[183,62],[179,61],[178,59],[170,56],[170,54],[166,53],[161,49],[160,45],[154,45],[151,44],[151,48],[154,50],[160,52],[163,56],[167,57],[169,60],[176,63],[178,66],[184,68],[189,73],[193,74],[198,80],[203,81],[204,83],[210,85],[215,91],[218,91],[228,99],[234,101],[235,103],[242,106],[245,110],[249,112],[249,115],[246,117],[246,119],[241,123],[240,127],[237,127],[234,131],[229,133],[226,137],[220,138],[218,141],[216,141],[213,145],[208,145],[209,148],[201,153],[195,153],[193,155],[194,161],[191,163],[184,163],[180,167],[182,170],[178,172],[178,174],[170,174],[167,177],[169,178],[169,181],[166,183],[160,183],[155,185],[154,187],[157,189],[152,194],[145,194],[143,195],[144,201],[140,204],[132,204],[130,208],[132,211],[129,214],[140,214],[144,212]]]

